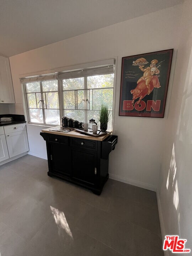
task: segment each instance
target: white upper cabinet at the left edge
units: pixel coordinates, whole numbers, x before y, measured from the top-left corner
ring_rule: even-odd
[[[0,103],[15,103],[9,59],[0,56]]]

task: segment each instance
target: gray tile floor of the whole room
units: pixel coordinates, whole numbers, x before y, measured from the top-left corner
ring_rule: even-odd
[[[108,180],[101,196],[31,155],[0,166],[1,256],[163,256],[155,192]]]

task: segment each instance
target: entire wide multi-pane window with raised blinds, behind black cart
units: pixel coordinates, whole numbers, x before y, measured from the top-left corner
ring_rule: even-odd
[[[114,62],[114,60],[111,60]],[[21,79],[29,123],[61,124],[62,116],[98,121],[101,103],[113,112],[114,64]],[[108,129],[112,128],[112,114]]]

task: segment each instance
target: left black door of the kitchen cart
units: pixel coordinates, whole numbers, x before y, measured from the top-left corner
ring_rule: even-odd
[[[51,171],[71,176],[71,154],[68,145],[62,143],[49,143]]]

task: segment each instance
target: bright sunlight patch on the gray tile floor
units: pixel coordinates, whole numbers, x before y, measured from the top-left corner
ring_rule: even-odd
[[[61,230],[63,229],[70,236],[70,238],[73,239],[73,235],[71,233],[71,230],[70,230],[67,220],[65,218],[64,212],[61,212],[60,210],[58,210],[52,206],[50,206],[50,209],[51,209],[53,217],[55,219],[55,223],[58,226],[59,235],[61,234]]]

